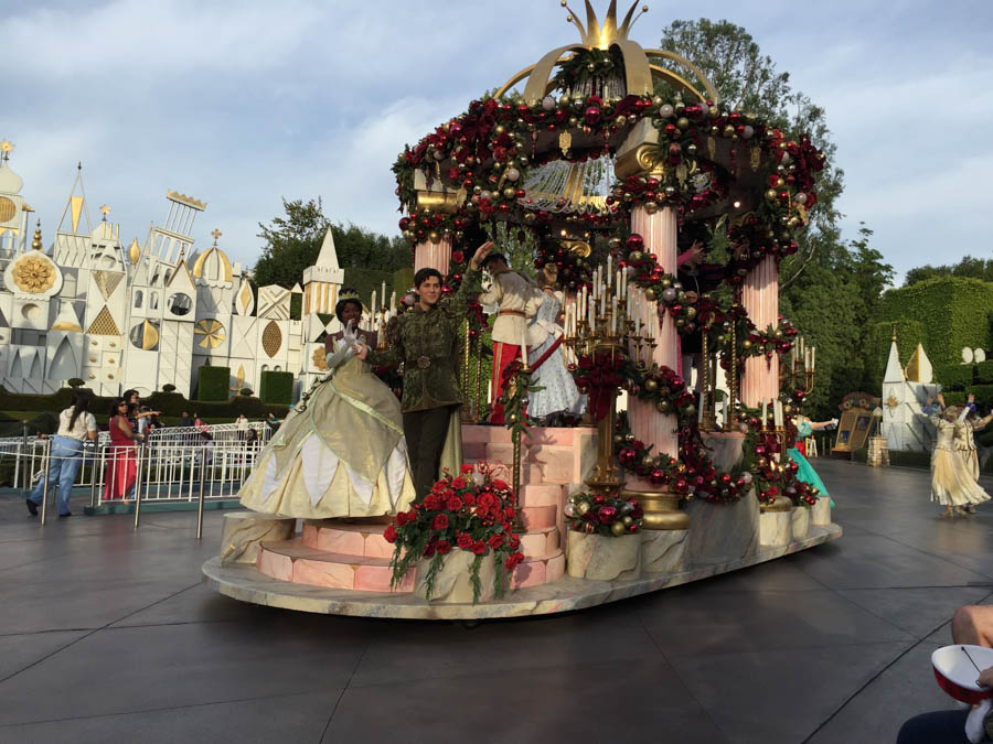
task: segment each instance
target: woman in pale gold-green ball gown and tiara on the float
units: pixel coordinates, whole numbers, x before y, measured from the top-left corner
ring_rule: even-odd
[[[395,514],[414,500],[396,396],[353,355],[362,314],[342,289],[344,326],[332,339],[329,375],[290,411],[239,492],[256,511],[307,519]]]

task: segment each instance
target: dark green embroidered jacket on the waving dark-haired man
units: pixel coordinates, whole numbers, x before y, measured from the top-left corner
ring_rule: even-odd
[[[386,326],[386,348],[370,349],[373,366],[404,365],[405,413],[462,402],[459,374],[459,332],[469,314],[469,303],[479,291],[479,269],[468,269],[462,285],[447,305],[414,310],[394,317]]]

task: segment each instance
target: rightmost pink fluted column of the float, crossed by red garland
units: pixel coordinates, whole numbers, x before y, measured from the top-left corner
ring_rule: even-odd
[[[748,317],[759,331],[779,324],[779,267],[769,256],[745,279],[741,304]],[[760,408],[764,400],[779,397],[779,356],[771,359],[751,356],[745,359],[741,375],[741,402],[749,408]]]

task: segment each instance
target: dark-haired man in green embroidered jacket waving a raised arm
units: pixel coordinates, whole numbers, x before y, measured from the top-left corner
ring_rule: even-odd
[[[468,316],[469,303],[480,289],[480,265],[491,250],[492,242],[477,249],[462,285],[447,305],[439,304],[441,273],[420,269],[414,274],[417,303],[410,312],[389,321],[387,347],[375,351],[362,345],[357,351],[360,359],[377,367],[404,365],[404,436],[418,500],[430,493],[438,479],[449,420],[462,405],[456,370],[459,331]]]

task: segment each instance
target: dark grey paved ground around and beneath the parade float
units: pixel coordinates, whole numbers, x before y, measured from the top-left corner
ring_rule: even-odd
[[[949,707],[928,659],[991,599],[993,507],[943,520],[925,473],[814,462],[834,543],[474,629],[214,595],[216,511],[197,543],[192,513],[42,529],[3,497],[0,742],[891,742]]]

